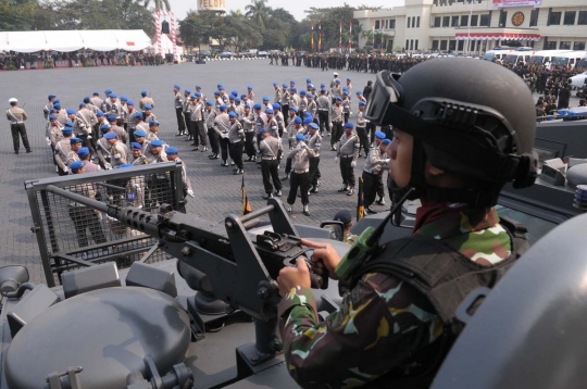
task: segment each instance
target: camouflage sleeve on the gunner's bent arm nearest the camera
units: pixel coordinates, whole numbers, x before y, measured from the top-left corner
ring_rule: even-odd
[[[423,294],[377,273],[365,275],[323,323],[304,288],[291,289],[278,314],[287,368],[301,386],[361,386],[402,366],[442,334]]]

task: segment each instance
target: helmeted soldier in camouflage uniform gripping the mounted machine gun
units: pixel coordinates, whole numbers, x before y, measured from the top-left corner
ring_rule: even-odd
[[[302,387],[428,387],[460,331],[457,306],[472,290],[492,287],[527,248],[525,229],[500,221],[494,205],[504,183],[524,188],[535,180],[532,95],[514,73],[492,63],[436,60],[434,71],[430,63],[390,79],[389,96],[375,105],[399,103],[367,113],[395,128],[386,149],[389,170],[398,187],[415,188],[408,195],[422,201],[413,235],[357,262],[341,261],[328,243],[302,239],[314,248],[316,273],[326,268],[349,283],[342,303],[324,322],[305,261],[284,267],[277,278],[286,368]],[[491,79],[478,85],[479,72]],[[454,85],[460,87],[447,87]],[[505,91],[512,100],[500,98]],[[470,117],[444,122],[433,108],[447,100],[485,106],[484,117],[473,125]],[[496,172],[496,161],[504,170]]]

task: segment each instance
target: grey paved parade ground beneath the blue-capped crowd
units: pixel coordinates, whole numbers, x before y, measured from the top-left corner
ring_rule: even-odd
[[[140,90],[148,90],[155,102],[154,113],[160,122],[160,138],[166,143],[179,149],[179,156],[186,163],[191,179],[195,199],[189,199],[187,211],[190,214],[220,222],[225,215],[240,212],[241,176],[234,176],[232,167],[221,167],[220,160],[210,161],[209,152],[190,151],[191,146],[185,137],[175,137],[177,124],[173,105],[173,85],[182,88],[202,87],[202,91],[211,97],[217,84],[223,84],[227,90],[246,92],[247,85],[254,87],[255,100],[266,95],[273,101],[273,81],[280,84],[295,80],[297,86],[304,87],[305,78],[311,78],[314,85],[329,84],[333,71],[322,72],[320,68],[270,65],[268,60],[234,60],[213,61],[204,65],[184,63],[173,66],[137,66],[137,67],[91,67],[91,68],[57,68],[39,71],[0,72],[0,102],[8,109],[8,100],[17,98],[20,106],[24,105],[28,114],[26,128],[33,153],[15,155],[12,148],[9,122],[3,120],[0,129],[0,266],[22,264],[27,266],[34,283],[45,281],[40,264],[39,250],[35,235],[30,231],[33,219],[23,183],[55,176],[51,159],[51,150],[45,143],[45,120],[42,108],[47,95],[53,93],[65,109],[77,109],[85,96],[99,91],[103,98],[107,88],[118,96],[125,95],[138,105]],[[361,90],[369,79],[374,79],[370,73],[338,71],[339,78],[352,79],[353,92]],[[536,96],[537,98],[537,96]],[[576,98],[573,98],[573,101]],[[355,101],[352,102],[357,111]],[[351,120],[353,121],[353,120]],[[328,151],[329,138],[322,151],[320,168],[322,185],[320,192],[310,197],[311,216],[304,216],[301,201],[298,198],[294,206],[294,223],[317,226],[322,221],[332,219],[342,209],[354,214],[357,197],[338,193],[341,178],[338,163],[334,161],[335,153]],[[355,177],[359,178],[364,165],[364,159],[359,160]],[[279,175],[283,175],[282,164]],[[245,183],[249,200],[253,209],[264,205],[264,195],[261,171],[257,164],[246,163]],[[288,193],[288,183],[284,185],[284,197]],[[386,208],[375,205],[376,210]]]

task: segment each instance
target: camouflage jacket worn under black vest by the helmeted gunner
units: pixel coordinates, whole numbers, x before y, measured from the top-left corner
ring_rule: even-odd
[[[450,210],[414,234],[442,240],[479,264],[502,261],[511,251],[492,208]],[[442,322],[427,298],[382,273],[365,274],[323,323],[312,291],[302,287],[280,301],[278,315],[287,368],[302,386],[362,386],[409,365],[442,334]]]

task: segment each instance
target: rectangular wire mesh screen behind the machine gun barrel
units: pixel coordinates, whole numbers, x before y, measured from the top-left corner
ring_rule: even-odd
[[[128,267],[147,253],[147,262],[160,262],[167,255],[155,249],[158,239],[132,229],[117,219],[89,206],[76,203],[45,188],[53,185],[71,192],[118,206],[135,206],[159,213],[161,204],[178,209],[183,196],[180,165],[174,163],[141,166],[87,175],[74,175],[34,181],[27,190],[29,201],[34,200],[33,212],[42,239],[38,239],[48,285],[61,284],[62,272],[79,268],[83,264],[75,260],[92,263],[114,261],[118,268]],[[179,166],[179,170],[177,168]],[[177,179],[178,178],[178,179]],[[180,206],[179,206],[180,208]],[[152,250],[151,250],[152,249]],[[45,253],[45,255],[43,255]],[[51,279],[47,266],[51,268]]]

